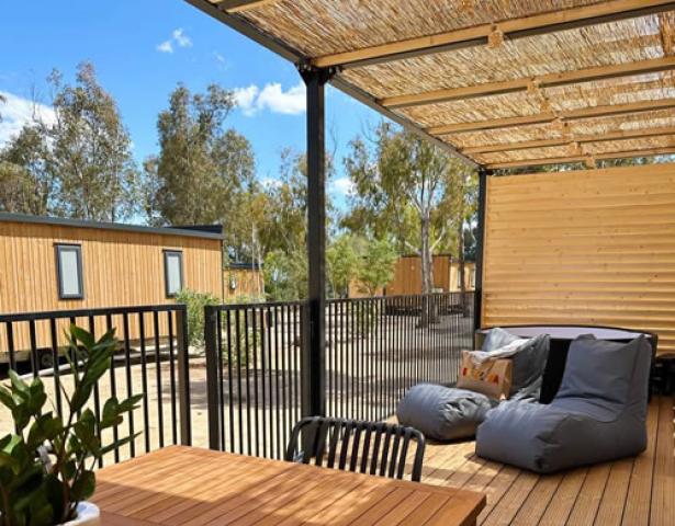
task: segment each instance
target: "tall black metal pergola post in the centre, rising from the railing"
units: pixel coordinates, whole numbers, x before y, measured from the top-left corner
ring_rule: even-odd
[[[331,71],[300,68],[307,88],[308,295],[302,357],[302,415],[326,413],[326,137],[325,85]]]

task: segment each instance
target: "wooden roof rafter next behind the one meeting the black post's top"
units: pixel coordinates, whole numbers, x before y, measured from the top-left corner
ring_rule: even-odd
[[[553,88],[618,77],[668,71],[673,69],[675,69],[675,57],[654,58],[651,60],[549,73],[533,78],[524,77],[502,82],[486,82],[477,85],[428,91],[426,93],[389,96],[381,99],[380,104],[390,108],[419,106],[424,104],[437,104],[441,102],[499,95],[503,93],[522,92],[527,91],[528,87],[532,84],[539,88]]]

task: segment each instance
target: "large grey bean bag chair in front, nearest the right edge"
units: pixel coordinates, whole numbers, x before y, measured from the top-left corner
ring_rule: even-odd
[[[476,433],[480,457],[549,473],[638,455],[646,447],[651,347],[582,336],[550,404],[502,403]]]

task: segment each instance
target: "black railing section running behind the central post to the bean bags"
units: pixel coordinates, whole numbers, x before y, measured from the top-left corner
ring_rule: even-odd
[[[473,294],[329,300],[326,411],[384,420],[420,381],[457,380],[473,339]],[[302,416],[302,301],[205,309],[209,445],[282,458]]]

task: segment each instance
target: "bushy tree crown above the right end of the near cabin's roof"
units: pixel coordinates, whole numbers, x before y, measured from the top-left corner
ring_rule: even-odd
[[[159,155],[145,162],[149,222],[203,225],[236,216],[255,161],[248,140],[225,127],[233,107],[232,92],[216,84],[206,93],[181,84],[170,94],[157,118]]]

